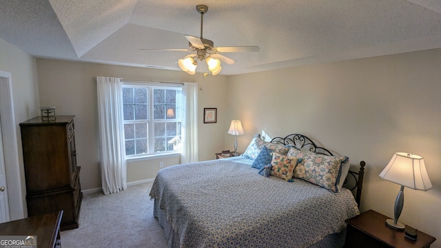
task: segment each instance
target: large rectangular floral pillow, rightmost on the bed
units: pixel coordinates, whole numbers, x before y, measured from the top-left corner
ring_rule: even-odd
[[[307,180],[332,192],[340,192],[338,183],[340,181],[342,163],[349,158],[345,156],[326,156],[309,151],[289,149],[288,157],[302,158],[294,169],[294,177]]]

